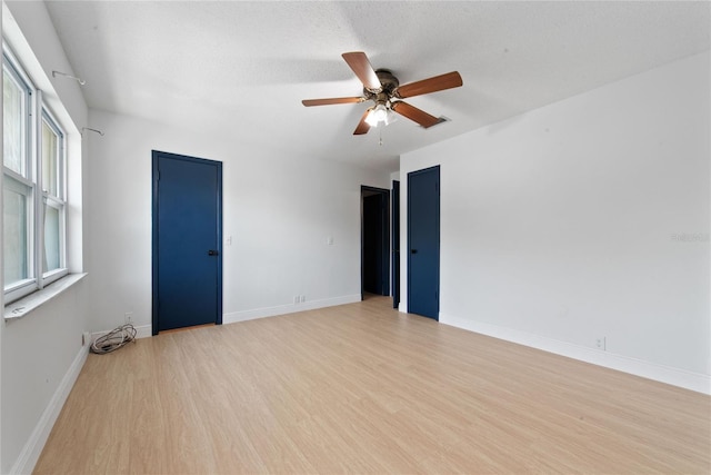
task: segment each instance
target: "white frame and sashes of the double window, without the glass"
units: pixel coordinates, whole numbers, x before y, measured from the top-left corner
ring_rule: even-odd
[[[27,72],[22,68],[20,61],[10,51],[6,42],[2,43],[2,71],[4,75],[6,67],[11,71],[14,79],[21,83],[28,93],[26,120],[26,174],[24,176],[7,168],[2,164],[3,186],[8,186],[6,177],[10,178],[14,191],[21,192],[27,197],[27,255],[28,255],[28,277],[11,285],[6,285],[4,304],[16,301],[33,291],[44,288],[47,285],[60,279],[69,274],[67,267],[67,133],[61,128],[59,121],[47,105],[42,101],[42,92],[37,89]],[[60,144],[58,144],[58,152],[60,154],[58,164],[58,196],[49,195],[40,191],[40,181],[42,179],[42,122],[47,122],[49,127],[58,132]],[[19,184],[19,185],[18,185]],[[23,189],[22,189],[23,188]],[[60,263],[58,269],[43,273],[42,257],[44,253],[44,204],[58,209],[59,212],[59,256]],[[4,270],[3,270],[4,271]]]

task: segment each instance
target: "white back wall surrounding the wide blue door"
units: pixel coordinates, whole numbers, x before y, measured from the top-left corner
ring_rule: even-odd
[[[223,162],[223,320],[360,299],[360,186],[389,176],[90,111],[93,330],[151,324],[151,150]],[[333,245],[327,245],[327,237]],[[304,304],[293,305],[293,296]]]

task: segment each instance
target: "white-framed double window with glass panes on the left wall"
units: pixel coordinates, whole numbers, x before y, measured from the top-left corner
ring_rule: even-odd
[[[67,274],[64,132],[9,50],[2,57],[6,303]]]

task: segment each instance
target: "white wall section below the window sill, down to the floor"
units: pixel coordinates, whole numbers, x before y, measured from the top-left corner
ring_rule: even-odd
[[[32,469],[88,353],[87,279],[27,316],[2,339],[1,473]]]

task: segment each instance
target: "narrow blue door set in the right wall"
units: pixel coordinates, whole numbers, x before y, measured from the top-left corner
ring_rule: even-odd
[[[408,174],[408,311],[439,319],[440,167]]]

